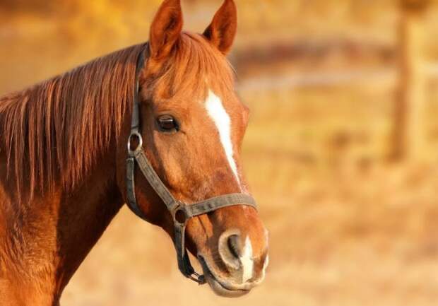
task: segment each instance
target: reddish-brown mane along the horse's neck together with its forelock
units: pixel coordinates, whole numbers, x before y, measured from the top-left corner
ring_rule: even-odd
[[[26,192],[32,199],[35,190],[59,185],[73,189],[109,144],[117,144],[131,112],[136,61],[144,49],[136,45],[114,52],[0,98],[0,153],[6,154],[18,196]],[[191,99],[205,91],[200,87],[206,83],[223,95],[233,92],[230,64],[201,35],[182,33],[169,63],[148,89],[191,93]]]

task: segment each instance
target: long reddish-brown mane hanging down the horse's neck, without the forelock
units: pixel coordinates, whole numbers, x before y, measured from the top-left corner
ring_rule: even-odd
[[[0,98],[0,151],[18,194],[73,188],[119,135],[142,45]],[[115,138],[117,141],[117,137]]]

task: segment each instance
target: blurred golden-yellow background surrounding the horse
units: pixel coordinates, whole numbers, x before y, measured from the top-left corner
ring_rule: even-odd
[[[148,40],[160,0],[0,0],[0,95]],[[201,32],[220,0],[184,0]],[[265,283],[217,298],[123,208],[61,305],[437,305],[438,1],[237,0]]]

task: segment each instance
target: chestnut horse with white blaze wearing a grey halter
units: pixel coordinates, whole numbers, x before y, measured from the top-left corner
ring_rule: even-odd
[[[165,0],[148,42],[0,98],[0,305],[59,305],[124,204],[214,293],[264,280],[268,232],[241,161],[249,109],[226,59],[237,7],[225,0],[203,34],[182,26]]]

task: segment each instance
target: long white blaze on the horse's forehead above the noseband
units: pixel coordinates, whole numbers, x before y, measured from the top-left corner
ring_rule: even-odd
[[[222,100],[213,93],[213,91],[208,90],[208,97],[206,100],[206,109],[208,115],[213,119],[216,127],[219,131],[220,142],[227,156],[228,163],[230,164],[231,170],[234,173],[237,184],[240,186],[239,174],[237,172],[236,161],[233,157],[233,149],[231,142],[231,120],[227,111],[223,107]]]

